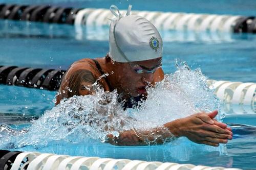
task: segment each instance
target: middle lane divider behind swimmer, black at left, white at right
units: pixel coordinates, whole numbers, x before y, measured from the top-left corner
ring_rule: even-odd
[[[0,84],[45,90],[58,90],[66,70],[0,66]],[[224,103],[256,107],[256,83],[208,80],[216,96]]]

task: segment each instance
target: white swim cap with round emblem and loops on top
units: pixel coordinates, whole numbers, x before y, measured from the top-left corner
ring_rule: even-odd
[[[110,7],[117,17],[110,24],[110,58],[126,63],[162,57],[163,41],[156,27],[144,17],[130,15],[131,8],[122,16],[115,5]]]

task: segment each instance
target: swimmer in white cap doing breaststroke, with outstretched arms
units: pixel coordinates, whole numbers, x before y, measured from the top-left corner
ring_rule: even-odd
[[[62,79],[56,105],[73,95],[93,95],[92,85],[98,80],[105,91],[117,90],[120,101],[125,101],[124,109],[131,108],[141,99],[146,100],[147,86],[164,79],[163,42],[158,30],[144,17],[130,15],[131,6],[125,16],[114,5],[110,10],[116,19],[111,20],[109,53],[103,58],[74,62]],[[102,77],[105,74],[108,76]],[[217,147],[232,139],[231,129],[214,119],[217,114],[218,111],[201,112],[148,131],[122,131],[118,137],[106,136],[106,141],[116,145],[161,144],[185,136],[196,143]]]

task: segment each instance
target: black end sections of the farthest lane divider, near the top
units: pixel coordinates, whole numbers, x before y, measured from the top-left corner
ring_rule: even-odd
[[[73,25],[78,8],[63,8],[50,5],[0,4],[0,19],[28,20]],[[95,9],[96,10],[96,9]],[[256,17],[241,16],[234,22],[233,33],[256,33]]]

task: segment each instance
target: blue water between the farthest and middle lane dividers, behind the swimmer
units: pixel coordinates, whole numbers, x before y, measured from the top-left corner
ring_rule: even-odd
[[[76,60],[103,57],[109,50],[108,28],[99,33],[81,27],[80,33],[69,25],[7,20],[0,20],[0,26],[2,65],[67,69]],[[200,67],[209,79],[256,82],[256,35],[160,32],[166,74],[175,70],[179,58],[191,68]]]

